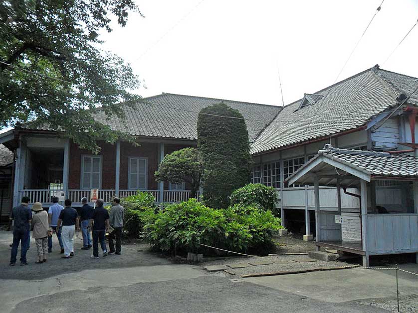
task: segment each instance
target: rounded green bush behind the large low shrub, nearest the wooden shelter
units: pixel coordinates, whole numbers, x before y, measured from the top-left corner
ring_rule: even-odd
[[[231,195],[231,205],[256,206],[270,210],[278,216],[276,209],[277,191],[263,184],[248,184],[235,190]]]

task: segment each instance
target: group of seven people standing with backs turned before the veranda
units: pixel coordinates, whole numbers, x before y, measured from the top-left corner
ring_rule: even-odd
[[[103,257],[108,254],[121,254],[121,237],[124,209],[119,198],[114,198],[110,212],[103,207],[102,199],[96,200],[93,209],[83,198],[79,213],[71,207],[71,200],[64,202],[65,208],[58,204],[58,198],[52,197],[53,205],[48,212],[42,209],[42,204],[35,202],[29,209],[28,197],[21,199],[21,204],[12,209],[10,219],[13,220],[13,243],[11,244],[10,265],[16,265],[17,249],[20,243],[20,265],[27,265],[26,252],[30,244],[30,230],[35,239],[38,259],[36,264],[47,261],[47,254],[52,252],[52,236],[56,234],[63,259],[74,256],[74,234],[80,231],[83,236],[82,250],[91,249],[91,258],[99,258],[99,242]],[[33,214],[32,214],[33,211]],[[90,235],[90,232],[92,235]],[[106,232],[109,233],[109,251],[106,247]],[[116,239],[116,248],[114,240]]]

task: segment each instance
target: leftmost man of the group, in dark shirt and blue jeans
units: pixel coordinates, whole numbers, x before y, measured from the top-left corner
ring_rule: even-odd
[[[23,197],[21,205],[13,208],[10,219],[14,220],[13,244],[11,246],[10,265],[16,264],[17,247],[20,242],[20,265],[27,265],[26,252],[28,248],[28,237],[32,211],[28,207],[29,198]]]

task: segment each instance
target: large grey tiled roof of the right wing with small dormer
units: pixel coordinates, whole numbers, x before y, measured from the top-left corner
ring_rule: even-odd
[[[325,95],[316,104],[298,110],[298,100],[283,107],[251,144],[251,153],[268,151],[364,125],[377,114],[409,96],[418,79],[375,66],[316,92]],[[418,105],[418,92],[408,103]]]

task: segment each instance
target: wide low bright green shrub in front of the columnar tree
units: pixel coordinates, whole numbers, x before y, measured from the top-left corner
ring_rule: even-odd
[[[190,199],[159,211],[154,219],[149,219],[144,231],[151,245],[162,251],[216,253],[199,244],[202,243],[265,255],[272,251],[272,232],[279,228],[280,219],[271,211],[238,205],[211,209]]]

